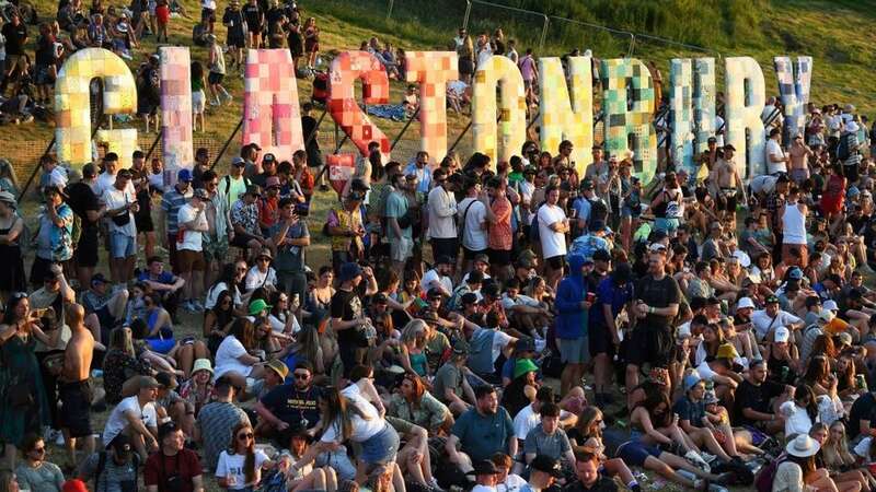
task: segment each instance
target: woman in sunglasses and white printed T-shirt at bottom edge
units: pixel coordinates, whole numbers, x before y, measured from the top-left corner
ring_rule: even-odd
[[[228,449],[219,455],[216,478],[223,489],[251,492],[258,488],[262,470],[273,467],[274,462],[267,455],[255,448],[253,427],[247,423],[240,423],[231,433]]]

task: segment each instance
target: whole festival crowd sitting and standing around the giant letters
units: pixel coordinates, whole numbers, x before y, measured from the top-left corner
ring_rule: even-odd
[[[232,0],[224,44],[216,2],[201,9],[201,128],[208,101],[232,99],[222,81],[244,48],[288,47],[302,74],[320,65],[320,31],[297,5]],[[0,89],[19,97],[32,77],[36,92],[15,101],[43,105],[66,55],[166,42],[172,12],[187,15],[168,0],[62,2],[33,67],[13,15]],[[535,105],[531,50],[500,30],[453,44],[450,107],[470,102],[491,56],[518,65]],[[402,49],[377,37],[362,49],[404,80]],[[138,71],[147,129],[159,62]],[[417,112],[416,87],[404,103]],[[81,169],[43,156],[35,220],[0,160],[0,492],[638,492],[644,480],[868,492],[874,127],[852,105],[810,104],[805,131],[784,132],[779,106],[764,108],[769,174],[750,180],[718,125],[696,173],[661,154],[652,183],[601,145],[581,169],[569,141],[555,153],[527,141],[509,162],[384,162],[373,143],[335,196],[318,183],[310,103],[314,138],[291,160],[251,143],[222,174],[203,148],[172,186],[139,150],[130,168],[113,152]],[[311,216],[314,200],[326,216]]]

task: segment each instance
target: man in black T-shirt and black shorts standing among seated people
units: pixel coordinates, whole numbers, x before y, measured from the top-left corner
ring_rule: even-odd
[[[634,289],[633,315],[635,328],[630,340],[626,387],[638,385],[638,374],[644,363],[652,367],[668,367],[675,347],[672,320],[678,315],[681,290],[676,279],[666,274],[666,247],[650,248],[648,274]],[[632,394],[632,393],[631,393]]]

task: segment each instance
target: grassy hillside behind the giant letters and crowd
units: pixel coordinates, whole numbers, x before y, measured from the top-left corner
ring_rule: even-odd
[[[32,0],[42,19],[54,16],[53,0]],[[574,19],[592,25],[609,25],[620,31],[653,34],[691,46],[712,50],[711,54],[680,45],[667,44],[654,38],[638,36],[632,55],[642,59],[654,59],[664,69],[668,80],[668,60],[679,56],[753,56],[761,63],[770,93],[775,93],[776,83],[772,69],[775,55],[811,55],[815,58],[811,98],[816,103],[854,102],[858,109],[871,113],[876,109],[876,92],[868,83],[869,67],[876,59],[871,49],[876,42],[869,25],[876,14],[872,2],[852,0],[667,0],[647,2],[641,0],[492,0],[487,3],[474,0],[469,10],[469,31],[492,32],[503,27],[509,38],[518,39],[518,49],[529,46],[538,48],[544,38],[540,55],[562,55],[569,49],[591,48],[598,57],[615,57],[631,51],[630,36],[609,33],[585,24],[563,21]],[[84,2],[87,5],[89,2]],[[182,0],[188,12],[197,16],[198,3]],[[544,12],[534,15],[522,11],[500,9],[502,3],[515,9]],[[123,2],[105,2],[117,4]],[[323,57],[330,59],[342,49],[356,49],[362,40],[376,35],[381,40],[405,49],[446,49],[466,13],[464,0],[303,0],[303,15],[315,16],[322,30]],[[391,15],[388,8],[392,4]],[[219,10],[226,2],[219,2]],[[548,19],[546,30],[545,19]],[[171,21],[171,45],[188,46],[193,19]],[[224,38],[224,27],[217,25],[217,34]],[[36,28],[31,27],[31,49]],[[157,49],[154,37],[146,37],[130,66],[136,67]],[[193,60],[206,60],[204,48],[192,47]],[[721,69],[719,69],[721,71]],[[196,145],[208,145],[217,151],[237,126],[241,115],[242,80],[227,78],[228,86],[235,95],[230,107],[208,109],[207,131],[195,134]],[[718,84],[723,84],[719,78]],[[392,99],[401,98],[403,83],[393,82]],[[310,82],[299,80],[302,99],[310,95]],[[466,124],[464,117],[450,117],[450,139],[458,136]],[[383,131],[394,138],[402,124],[378,120]],[[118,127],[118,126],[117,126]],[[326,118],[322,126],[324,148],[334,150],[334,125]],[[412,125],[400,141],[399,157],[406,159],[416,149],[418,126]],[[42,154],[51,139],[51,126],[31,124],[22,127],[8,126],[0,131],[0,149],[4,156],[26,175],[35,159]],[[154,134],[141,133],[140,144],[148,149]],[[235,137],[235,142],[240,136]],[[232,145],[233,151],[237,145]],[[461,149],[471,148],[470,136],[461,141]],[[344,148],[351,150],[349,143]],[[227,161],[228,156],[226,156]]]

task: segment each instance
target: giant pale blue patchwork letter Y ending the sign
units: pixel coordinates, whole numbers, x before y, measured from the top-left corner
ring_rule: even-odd
[[[779,95],[784,106],[785,141],[789,142],[796,133],[804,133],[806,126],[806,104],[809,102],[809,87],[812,80],[812,57],[797,57],[793,62],[788,57],[773,58],[775,78],[779,80]]]

